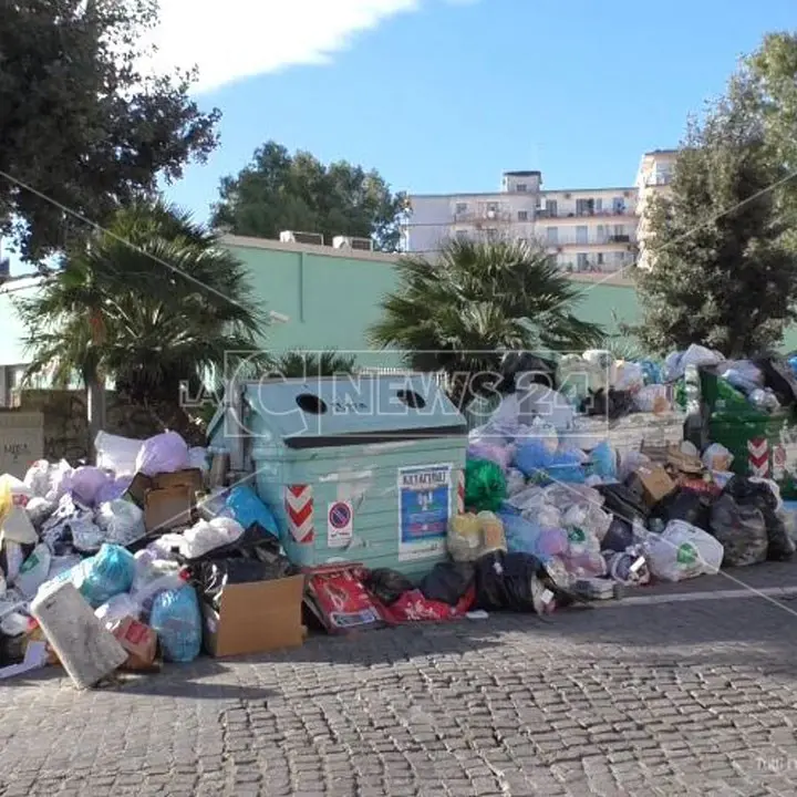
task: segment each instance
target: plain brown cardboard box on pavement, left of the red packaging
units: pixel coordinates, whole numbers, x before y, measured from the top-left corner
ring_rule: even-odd
[[[304,641],[304,576],[227,584],[219,611],[203,604],[205,650],[213,656],[267,653]]]

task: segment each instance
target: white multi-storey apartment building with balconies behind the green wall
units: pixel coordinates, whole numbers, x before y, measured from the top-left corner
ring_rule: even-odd
[[[669,184],[674,157],[645,154],[633,186],[545,190],[540,172],[505,172],[496,193],[411,196],[404,249],[432,253],[448,238],[537,240],[562,270],[622,270],[638,262],[640,214]]]

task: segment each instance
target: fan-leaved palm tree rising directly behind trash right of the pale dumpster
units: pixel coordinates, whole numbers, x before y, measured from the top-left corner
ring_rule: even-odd
[[[445,372],[459,406],[495,383],[505,352],[581,352],[601,334],[573,315],[579,289],[532,244],[451,240],[434,260],[403,258],[398,275],[371,340],[416,371]]]

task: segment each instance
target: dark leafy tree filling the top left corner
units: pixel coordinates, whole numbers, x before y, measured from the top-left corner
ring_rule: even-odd
[[[0,3],[0,235],[38,260],[217,143],[193,72],[144,76],[156,0]]]

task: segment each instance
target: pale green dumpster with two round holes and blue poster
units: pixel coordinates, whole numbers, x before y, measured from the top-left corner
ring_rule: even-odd
[[[214,422],[211,449],[240,445],[296,565],[420,576],[445,559],[467,427],[432,375],[250,382],[236,397],[232,423]]]

